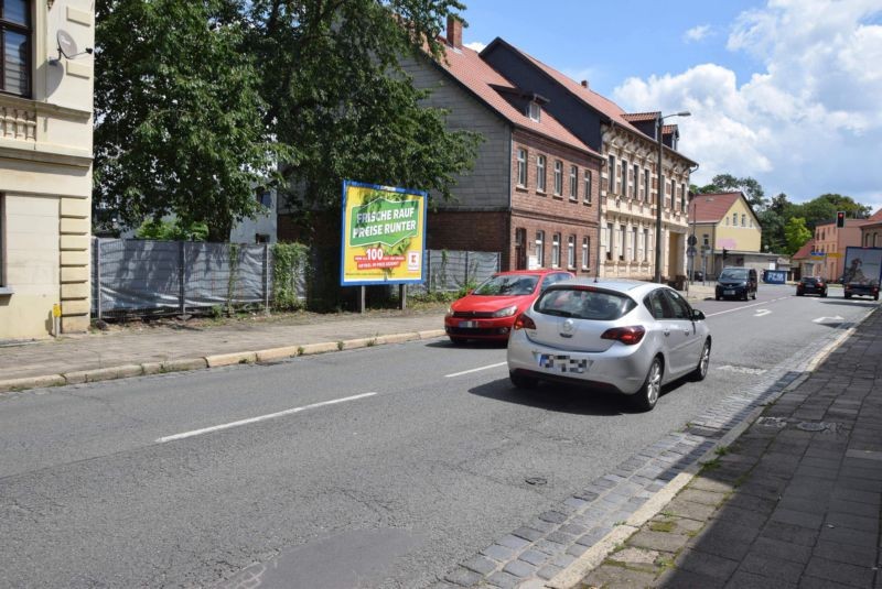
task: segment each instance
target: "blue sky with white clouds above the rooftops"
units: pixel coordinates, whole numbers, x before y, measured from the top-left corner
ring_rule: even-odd
[[[472,48],[499,36],[628,112],[691,112],[666,122],[692,184],[882,208],[882,0],[463,1]]]

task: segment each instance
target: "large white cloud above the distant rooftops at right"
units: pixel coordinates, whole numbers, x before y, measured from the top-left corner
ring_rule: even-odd
[[[742,13],[728,48],[762,70],[740,86],[723,65],[630,78],[613,92],[626,110],[675,112],[693,181],[752,176],[794,201],[840,193],[882,204],[882,17],[879,0],[770,0]],[[671,119],[671,122],[675,119]]]

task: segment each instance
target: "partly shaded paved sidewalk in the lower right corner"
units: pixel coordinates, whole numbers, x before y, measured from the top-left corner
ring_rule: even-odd
[[[718,449],[582,588],[882,588],[882,314]]]

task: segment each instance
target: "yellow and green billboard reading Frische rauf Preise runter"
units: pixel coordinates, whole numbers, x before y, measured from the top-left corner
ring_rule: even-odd
[[[340,284],[423,282],[427,204],[421,190],[344,181]]]

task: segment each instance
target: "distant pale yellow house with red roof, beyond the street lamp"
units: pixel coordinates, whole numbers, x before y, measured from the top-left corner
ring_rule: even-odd
[[[752,265],[745,258],[760,252],[763,231],[743,193],[695,195],[689,218],[689,232],[696,236],[696,270],[716,276],[724,266]]]

